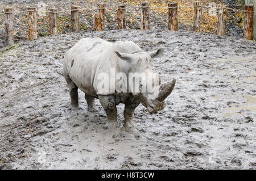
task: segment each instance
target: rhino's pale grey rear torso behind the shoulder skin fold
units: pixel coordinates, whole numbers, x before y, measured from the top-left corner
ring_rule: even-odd
[[[79,40],[64,56],[64,75],[86,94],[97,96],[93,88],[94,75],[102,52],[111,45],[100,38]]]

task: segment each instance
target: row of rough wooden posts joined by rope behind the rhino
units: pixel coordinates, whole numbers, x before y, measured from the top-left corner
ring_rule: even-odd
[[[150,3],[143,2],[141,6],[133,6],[141,9],[141,30],[150,30],[150,9],[159,8],[159,7],[150,7]],[[189,7],[189,6],[187,6]],[[203,8],[207,6],[202,6],[200,1],[195,1],[193,3],[194,12],[194,22],[193,30],[196,32],[201,32],[201,23],[203,17]],[[163,7],[161,7],[163,8]],[[178,14],[177,9],[183,8],[178,6],[177,3],[168,3],[168,29],[170,31],[178,30]],[[226,5],[218,5],[218,27],[216,34],[219,36],[225,35],[226,33],[226,21],[228,10]],[[94,30],[95,31],[104,31],[104,21],[105,21],[105,5],[98,4],[98,12],[94,15]],[[71,6],[71,22],[72,22],[72,32],[79,32],[79,6]],[[244,38],[248,40],[253,40],[253,24],[254,24],[254,5],[245,5],[245,10],[238,10],[245,12],[245,30]],[[21,11],[20,11],[21,12]],[[24,11],[23,11],[24,12]],[[37,30],[36,30],[36,19],[37,19],[37,9],[36,7],[27,7],[28,13],[28,39],[36,39]],[[49,13],[49,33],[51,35],[57,35],[57,13],[67,12],[67,11],[57,11],[56,9],[49,9],[46,11]],[[118,29],[126,29],[126,20],[125,20],[126,5],[119,5],[117,8],[117,24]],[[19,13],[19,12],[18,12]],[[14,43],[14,28],[13,28],[13,9],[11,7],[6,7],[5,12],[5,45],[13,45]]]

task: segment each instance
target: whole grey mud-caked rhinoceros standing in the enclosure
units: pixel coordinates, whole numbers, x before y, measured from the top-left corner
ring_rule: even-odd
[[[98,79],[99,75],[110,75],[110,70],[118,73],[153,73],[152,58],[159,57],[164,53],[163,48],[158,48],[152,52],[144,52],[133,41],[116,41],[115,43],[100,39],[98,37],[84,38],[79,40],[71,49],[65,53],[63,68],[65,81],[68,83],[71,105],[79,106],[77,89],[85,93],[85,99],[88,104],[89,112],[97,112],[94,99],[100,100],[102,107],[106,112],[107,127],[118,127],[117,108],[119,103],[125,104],[123,127],[134,126],[134,110],[140,103],[146,107],[150,113],[156,113],[165,107],[164,99],[171,94],[176,80],[173,78],[170,82],[160,85],[158,83],[152,86],[159,86],[158,96],[150,98],[150,94],[145,91],[107,91],[99,89],[102,83]],[[111,75],[110,75],[111,77]],[[128,76],[127,76],[128,77]],[[140,86],[147,82],[140,81]],[[114,86],[117,81],[114,81]]]

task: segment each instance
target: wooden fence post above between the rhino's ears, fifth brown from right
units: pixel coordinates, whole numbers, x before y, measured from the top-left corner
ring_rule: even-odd
[[[141,3],[141,30],[150,30],[150,3]]]

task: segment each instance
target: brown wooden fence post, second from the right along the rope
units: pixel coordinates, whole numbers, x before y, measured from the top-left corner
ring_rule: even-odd
[[[228,5],[217,5],[218,9],[218,27],[216,34],[219,36],[226,34],[226,20],[227,20],[227,13]]]

